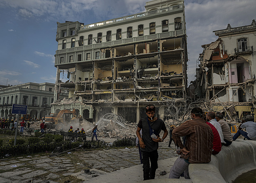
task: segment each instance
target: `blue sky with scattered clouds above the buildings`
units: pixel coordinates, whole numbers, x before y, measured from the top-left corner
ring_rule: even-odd
[[[0,0],[0,85],[54,83],[56,22],[85,24],[145,11],[148,0]],[[185,0],[189,82],[213,30],[250,25],[255,0]]]

